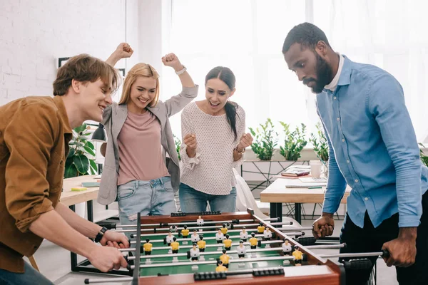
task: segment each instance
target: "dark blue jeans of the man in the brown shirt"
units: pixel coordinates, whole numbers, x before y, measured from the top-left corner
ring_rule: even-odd
[[[54,285],[30,264],[24,262],[24,273],[15,273],[0,269],[1,285]]]

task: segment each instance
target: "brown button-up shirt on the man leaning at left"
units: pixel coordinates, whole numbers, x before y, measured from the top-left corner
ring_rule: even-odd
[[[59,201],[71,138],[60,96],[0,107],[0,269],[24,272],[22,257],[39,248],[29,227]]]

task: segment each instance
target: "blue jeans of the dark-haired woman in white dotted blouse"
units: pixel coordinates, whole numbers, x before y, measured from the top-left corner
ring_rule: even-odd
[[[236,208],[235,187],[232,187],[229,195],[210,195],[181,183],[178,197],[180,198],[181,212],[186,213],[206,211],[207,202],[210,203],[211,211],[235,212]]]

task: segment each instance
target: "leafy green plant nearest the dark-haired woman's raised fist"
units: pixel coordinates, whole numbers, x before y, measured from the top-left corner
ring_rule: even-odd
[[[254,142],[251,145],[251,149],[260,160],[270,160],[273,153],[275,152],[275,146],[277,145],[277,133],[273,129],[272,120],[267,118],[265,124],[260,124],[260,128],[250,129],[251,135],[253,135]]]

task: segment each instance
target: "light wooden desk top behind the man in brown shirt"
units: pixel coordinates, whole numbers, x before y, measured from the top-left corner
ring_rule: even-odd
[[[82,187],[82,182],[96,182],[96,175],[83,175],[64,179],[63,192],[59,199],[66,206],[91,201],[98,196],[99,187],[88,187],[84,191],[71,191],[72,187]]]

